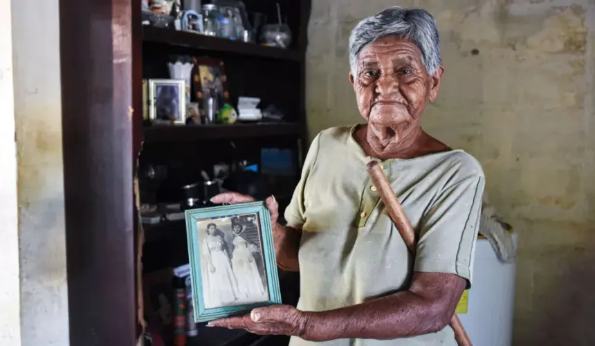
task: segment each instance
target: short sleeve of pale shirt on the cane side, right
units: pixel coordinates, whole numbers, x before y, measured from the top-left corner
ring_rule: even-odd
[[[484,185],[474,175],[442,190],[421,220],[414,271],[456,274],[470,287]]]

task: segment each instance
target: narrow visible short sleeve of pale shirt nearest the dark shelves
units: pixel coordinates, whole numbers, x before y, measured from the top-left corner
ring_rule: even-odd
[[[318,134],[314,140],[312,140],[308,154],[306,154],[306,160],[304,160],[304,167],[302,167],[302,176],[300,177],[300,182],[297,183],[297,186],[293,191],[293,197],[291,197],[289,206],[285,208],[284,216],[288,226],[301,228],[306,222],[306,219],[304,218],[304,188],[306,186],[306,181],[308,181],[310,171],[312,170],[312,167],[314,167],[316,158],[318,158],[319,145],[320,134]]]

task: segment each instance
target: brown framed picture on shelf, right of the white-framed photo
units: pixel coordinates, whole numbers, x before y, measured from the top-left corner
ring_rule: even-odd
[[[210,59],[207,57],[192,58],[194,95],[199,102],[201,116],[205,116],[205,104],[208,104],[209,97],[213,98],[215,113],[223,104],[229,102],[229,91],[227,89],[227,76],[223,60]]]

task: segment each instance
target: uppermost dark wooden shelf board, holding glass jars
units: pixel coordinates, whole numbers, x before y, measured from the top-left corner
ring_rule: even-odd
[[[171,46],[192,47],[205,51],[235,53],[253,57],[267,57],[276,60],[289,60],[295,62],[302,62],[303,60],[303,54],[301,54],[300,51],[267,47],[240,41],[230,41],[229,39],[219,37],[210,37],[146,25],[143,26],[143,42],[156,42],[169,44]]]

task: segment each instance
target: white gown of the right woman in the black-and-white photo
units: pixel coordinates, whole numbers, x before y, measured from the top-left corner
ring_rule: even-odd
[[[262,302],[268,299],[266,288],[258,271],[253,251],[242,237],[233,239],[232,265],[239,287],[239,300]]]

